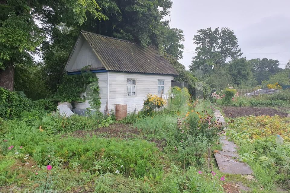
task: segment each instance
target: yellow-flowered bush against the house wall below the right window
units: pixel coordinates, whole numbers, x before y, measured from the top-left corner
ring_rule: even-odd
[[[144,100],[143,111],[146,114],[152,114],[154,110],[162,108],[166,105],[166,100],[157,96],[156,94],[148,94],[147,99]]]

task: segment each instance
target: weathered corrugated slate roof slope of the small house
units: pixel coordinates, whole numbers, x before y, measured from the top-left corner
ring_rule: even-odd
[[[178,75],[173,66],[154,46],[81,31],[107,70]]]

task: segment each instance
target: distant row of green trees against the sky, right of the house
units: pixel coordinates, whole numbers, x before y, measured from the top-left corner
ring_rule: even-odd
[[[239,58],[239,49],[234,31],[228,28],[200,29],[193,43],[197,44],[196,56],[192,58],[190,71],[201,74],[211,89],[221,90],[227,84],[240,88],[253,88],[262,84],[289,85],[288,68],[279,68],[279,61],[273,59]],[[229,60],[229,61],[226,61]]]

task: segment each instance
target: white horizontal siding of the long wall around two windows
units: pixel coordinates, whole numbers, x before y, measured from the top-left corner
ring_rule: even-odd
[[[157,80],[164,80],[164,95],[174,80],[170,75],[148,75],[121,72],[109,73],[109,111],[115,110],[115,104],[127,104],[127,112],[141,110],[147,94],[157,94]],[[136,96],[127,96],[127,79],[136,79]],[[164,96],[163,95],[163,96]]]

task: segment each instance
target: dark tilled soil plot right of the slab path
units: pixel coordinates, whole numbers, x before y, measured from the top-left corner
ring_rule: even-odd
[[[279,115],[281,117],[286,117],[288,113],[282,110],[277,110],[273,109],[270,107],[236,107],[236,106],[228,106],[223,108],[224,115],[227,117],[242,117],[246,115],[254,115],[254,116],[259,116],[259,115],[269,115],[269,116],[274,116],[274,115]]]

